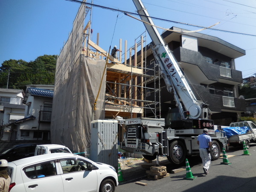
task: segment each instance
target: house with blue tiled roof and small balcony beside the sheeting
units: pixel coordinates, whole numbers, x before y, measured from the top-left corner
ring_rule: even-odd
[[[22,119],[3,125],[9,128],[9,140],[50,140],[53,91],[29,87]]]

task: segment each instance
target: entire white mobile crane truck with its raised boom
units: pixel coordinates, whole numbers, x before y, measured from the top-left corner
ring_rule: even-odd
[[[228,150],[227,137],[224,137],[223,133],[214,132],[213,121],[208,119],[208,105],[198,102],[195,98],[177,61],[168,45],[164,43],[142,2],[140,0],[133,2],[151,37],[151,49],[160,66],[161,76],[168,91],[174,93],[181,120],[172,121],[171,128],[164,128],[165,119],[126,119],[126,133],[120,147],[125,151],[143,154],[147,160],[165,155],[170,162],[180,164],[187,155],[199,154],[197,137],[204,128],[207,128],[208,134],[212,137],[212,160],[218,159],[222,147]]]

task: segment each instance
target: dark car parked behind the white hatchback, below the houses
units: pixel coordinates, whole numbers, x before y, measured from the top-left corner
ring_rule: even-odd
[[[26,157],[32,157],[35,155],[36,145],[42,143],[26,143],[14,145],[12,148],[7,149],[0,154],[0,159],[6,159],[8,162],[23,159]]]

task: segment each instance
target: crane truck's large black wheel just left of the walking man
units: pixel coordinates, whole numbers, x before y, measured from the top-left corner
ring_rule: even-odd
[[[181,141],[175,140],[170,144],[167,159],[175,164],[181,164],[186,157],[186,148]]]

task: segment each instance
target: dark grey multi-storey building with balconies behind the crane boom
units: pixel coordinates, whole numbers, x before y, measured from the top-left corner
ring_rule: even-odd
[[[209,105],[210,119],[215,125],[229,125],[246,111],[245,100],[239,98],[238,85],[242,83],[242,73],[236,70],[235,59],[245,55],[245,51],[220,38],[198,32],[186,33],[187,30],[177,27],[170,28],[162,37],[173,52],[188,80],[196,98]],[[146,68],[154,68],[154,55],[149,46],[146,47]],[[137,57],[139,57],[138,52]],[[140,57],[139,57],[140,58]],[[138,60],[140,62],[140,60]],[[155,67],[158,71],[158,66]],[[149,74],[149,72],[147,72]],[[156,72],[151,71],[151,75]],[[151,82],[148,87],[154,87]],[[166,90],[163,79],[160,79],[161,117],[169,118],[169,108],[177,113],[176,103],[171,93]],[[153,95],[147,97],[152,100]],[[159,100],[158,98],[158,100]],[[146,111],[147,116],[150,110]],[[167,122],[168,123],[168,122]]]

